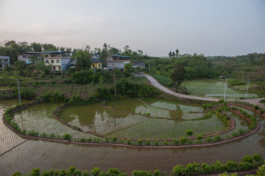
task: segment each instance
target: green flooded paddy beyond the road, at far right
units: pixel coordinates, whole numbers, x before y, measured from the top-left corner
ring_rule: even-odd
[[[225,81],[217,80],[193,80],[193,81],[184,81],[182,86],[185,86],[191,95],[208,97],[208,98],[223,98],[224,96],[224,86]],[[242,85],[242,87],[247,88],[247,85]],[[227,99],[239,99],[240,97],[245,97],[246,92],[235,90],[229,87],[226,87]],[[257,95],[254,93],[248,93],[248,98],[256,98]]]

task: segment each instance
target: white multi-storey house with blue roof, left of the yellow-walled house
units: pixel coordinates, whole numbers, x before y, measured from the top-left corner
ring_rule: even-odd
[[[71,51],[43,52],[45,65],[51,65],[52,71],[64,71],[71,60]]]

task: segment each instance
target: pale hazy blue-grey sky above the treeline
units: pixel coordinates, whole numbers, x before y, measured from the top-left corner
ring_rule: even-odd
[[[236,56],[265,53],[265,0],[0,0],[0,42]]]

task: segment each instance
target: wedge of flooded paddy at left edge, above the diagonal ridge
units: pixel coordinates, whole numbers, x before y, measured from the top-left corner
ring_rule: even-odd
[[[22,102],[25,102],[22,100]],[[7,128],[3,123],[3,113],[4,110],[19,104],[19,100],[1,100],[0,101],[0,154],[12,149],[13,147],[24,142],[25,139],[13,133],[9,128]]]

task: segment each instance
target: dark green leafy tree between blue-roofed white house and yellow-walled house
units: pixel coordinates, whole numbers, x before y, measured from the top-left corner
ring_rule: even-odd
[[[91,69],[92,54],[90,52],[88,52],[88,51],[77,51],[74,54],[74,58],[76,58],[75,69],[77,71]]]

